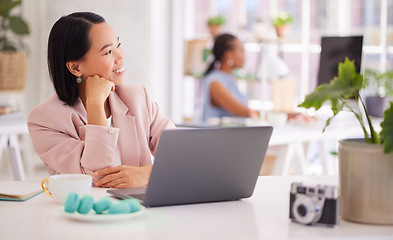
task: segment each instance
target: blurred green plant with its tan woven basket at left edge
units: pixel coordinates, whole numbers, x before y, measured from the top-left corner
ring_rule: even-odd
[[[0,0],[0,90],[22,90],[26,83],[27,54],[22,37],[29,26],[13,13],[17,0]]]

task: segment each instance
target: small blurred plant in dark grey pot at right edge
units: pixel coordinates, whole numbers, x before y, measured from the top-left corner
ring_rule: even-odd
[[[381,73],[366,68],[364,86],[374,91],[373,95],[366,97],[366,108],[370,116],[383,117],[383,112],[388,107],[387,96],[393,96],[393,70]]]

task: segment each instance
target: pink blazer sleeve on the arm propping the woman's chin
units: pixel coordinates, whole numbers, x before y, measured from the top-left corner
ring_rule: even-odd
[[[91,175],[114,164],[118,128],[84,125],[76,113],[60,118],[44,107],[33,110],[28,128],[34,148],[50,174]]]

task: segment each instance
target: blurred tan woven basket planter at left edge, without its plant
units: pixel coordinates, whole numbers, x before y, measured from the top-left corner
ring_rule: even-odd
[[[0,51],[0,90],[23,90],[26,84],[25,52]]]

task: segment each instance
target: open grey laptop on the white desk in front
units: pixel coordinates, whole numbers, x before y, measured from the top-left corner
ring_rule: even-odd
[[[112,189],[146,207],[248,198],[254,192],[271,126],[172,129],[161,134],[149,183]]]

